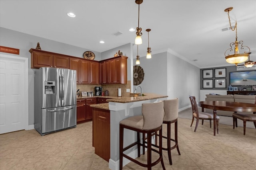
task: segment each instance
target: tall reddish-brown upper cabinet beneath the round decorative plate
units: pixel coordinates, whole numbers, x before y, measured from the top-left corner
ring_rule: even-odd
[[[99,84],[99,65],[97,61],[70,58],[70,69],[76,70],[77,84]]]

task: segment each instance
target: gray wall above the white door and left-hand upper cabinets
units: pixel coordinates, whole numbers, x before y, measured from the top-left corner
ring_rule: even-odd
[[[2,27],[0,27],[0,37],[1,46],[20,49],[20,55],[9,53],[2,54],[28,58],[28,125],[34,125],[34,71],[31,69],[31,54],[29,50],[31,48],[35,49],[38,42],[44,51],[71,55],[74,57],[82,58],[85,51],[92,50],[52,41],[50,39],[36,37],[34,35],[25,34]],[[95,60],[100,61],[101,53],[96,51],[92,52],[95,54]]]

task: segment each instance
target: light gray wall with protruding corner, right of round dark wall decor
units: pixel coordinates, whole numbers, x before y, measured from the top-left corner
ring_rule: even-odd
[[[136,59],[133,60],[134,65],[135,62]],[[168,95],[168,99],[178,98],[179,109],[190,106],[189,96],[200,97],[200,69],[175,55],[164,52],[152,55],[152,59],[140,57],[140,66],[145,73],[140,84],[143,93],[154,92]]]

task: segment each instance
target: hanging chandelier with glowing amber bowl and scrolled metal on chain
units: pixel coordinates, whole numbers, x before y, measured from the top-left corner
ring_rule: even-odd
[[[227,49],[226,52],[224,53],[226,62],[231,63],[231,64],[237,64],[238,63],[243,63],[248,59],[248,56],[250,55],[250,48],[247,46],[243,46],[244,41],[237,41],[237,22],[235,24],[235,27],[232,28],[231,22],[230,22],[230,17],[229,17],[229,12],[233,9],[233,7],[226,8],[224,11],[228,12],[228,20],[229,20],[229,25],[232,31],[236,30],[236,41],[234,43],[230,43],[230,49]],[[240,49],[248,49],[249,51],[244,53],[239,53],[239,45]],[[234,51],[234,54],[230,54],[229,52]],[[251,61],[250,61],[251,62]]]

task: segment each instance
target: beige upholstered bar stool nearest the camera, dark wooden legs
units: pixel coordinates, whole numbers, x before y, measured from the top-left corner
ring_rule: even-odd
[[[119,169],[122,170],[123,168],[123,157],[127,158],[128,160],[131,160],[132,162],[147,167],[148,170],[151,170],[152,166],[155,166],[159,162],[162,164],[162,168],[165,170],[164,167],[164,160],[162,156],[162,123],[163,123],[163,117],[164,117],[164,102],[158,102],[158,103],[147,103],[142,104],[142,115],[141,116],[132,116],[128,117],[127,119],[124,119],[120,121],[120,139],[119,139]],[[123,148],[124,146],[124,128],[130,129],[132,131],[137,132],[137,141],[128,145],[127,147]],[[135,160],[131,158],[130,156],[124,154],[124,151],[127,149],[130,149],[131,147],[134,147],[137,145],[138,147],[138,157],[140,157],[140,146],[142,144],[140,143],[140,133],[146,133],[148,136],[150,136],[152,133],[159,131],[159,137],[160,137],[160,144],[159,144],[159,151],[157,152],[159,154],[159,158],[152,162],[151,160],[151,151],[155,151],[151,148],[151,140],[148,141],[148,152],[147,152],[147,164],[143,164],[142,162],[139,162],[138,160]]]

